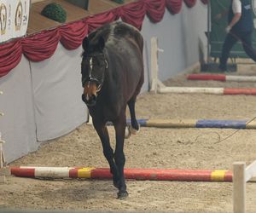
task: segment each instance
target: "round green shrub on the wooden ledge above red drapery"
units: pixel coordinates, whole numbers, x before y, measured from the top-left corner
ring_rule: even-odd
[[[67,12],[62,9],[61,5],[58,3],[47,4],[41,14],[50,20],[55,20],[61,23],[64,23],[67,20]]]

